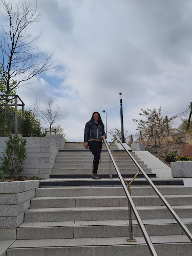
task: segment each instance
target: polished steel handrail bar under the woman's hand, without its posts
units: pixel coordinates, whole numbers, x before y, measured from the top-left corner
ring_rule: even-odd
[[[144,227],[144,225],[143,225],[143,222],[142,222],[142,220],[141,220],[141,218],[140,218],[140,216],[139,216],[139,214],[138,214],[138,211],[137,211],[137,209],[136,209],[136,207],[135,207],[135,204],[134,204],[134,202],[133,202],[133,200],[132,200],[132,198],[131,198],[131,195],[130,195],[128,189],[126,188],[126,185],[125,185],[125,183],[124,183],[124,181],[123,181],[123,178],[122,178],[122,176],[121,176],[121,174],[120,174],[120,172],[119,172],[119,169],[118,169],[118,167],[117,167],[117,165],[116,165],[116,163],[115,163],[115,160],[114,160],[114,158],[113,158],[113,156],[112,156],[112,154],[111,154],[111,151],[110,151],[110,148],[109,148],[109,146],[108,146],[108,143],[106,142],[105,139],[103,139],[103,141],[104,141],[104,144],[105,144],[105,146],[106,146],[106,149],[108,150],[108,153],[109,153],[109,155],[110,155],[110,158],[111,158],[111,160],[112,160],[112,162],[113,162],[113,165],[114,165],[114,167],[115,167],[115,170],[116,170],[116,172],[117,172],[117,175],[119,176],[119,179],[120,179],[120,182],[121,182],[121,184],[122,184],[122,186],[123,186],[123,189],[124,189],[124,192],[125,192],[125,194],[126,194],[126,197],[127,197],[128,201],[129,201],[130,204],[131,204],[131,207],[132,207],[133,212],[134,212],[134,214],[135,214],[135,218],[136,218],[136,220],[137,220],[137,222],[138,222],[138,224],[139,224],[139,226],[140,226],[141,232],[142,232],[143,237],[144,237],[144,239],[145,239],[145,242],[146,242],[146,244],[147,244],[147,246],[148,246],[148,249],[150,250],[150,252],[151,252],[152,255],[158,256],[158,255],[157,255],[157,252],[156,252],[156,250],[155,250],[155,248],[154,248],[154,245],[153,245],[153,243],[152,243],[150,237],[148,236],[148,233],[147,233],[147,231],[146,231],[146,229],[145,229],[145,227]],[[129,218],[130,218],[130,216],[129,216]]]

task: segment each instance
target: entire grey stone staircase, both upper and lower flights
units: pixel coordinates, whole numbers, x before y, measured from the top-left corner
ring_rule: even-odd
[[[104,147],[98,170],[98,174],[103,175],[102,180],[91,180],[92,154],[82,150],[80,143],[78,148],[72,144],[66,143],[64,150],[70,147],[68,152],[58,153],[51,179],[40,182],[30,209],[25,212],[25,222],[17,228],[17,240],[7,250],[7,256],[150,255],[135,218],[136,242],[126,241],[129,224],[127,199],[122,187],[115,184],[118,180],[114,170],[114,180],[108,180],[109,156]],[[127,154],[124,155],[116,146],[113,150],[122,176],[129,180],[137,169]],[[134,157],[140,161],[136,155]],[[139,163],[142,166],[143,163]],[[143,168],[150,176],[151,170],[147,166]],[[53,175],[60,176],[54,178]],[[152,179],[154,182],[160,180]],[[132,198],[158,255],[191,256],[192,243],[154,190],[143,183],[142,176],[137,180],[141,185],[133,184]],[[178,185],[167,185],[170,180],[160,181],[165,183],[157,185],[158,189],[192,231],[192,187],[184,187],[182,179],[172,179],[173,184],[179,181]]]

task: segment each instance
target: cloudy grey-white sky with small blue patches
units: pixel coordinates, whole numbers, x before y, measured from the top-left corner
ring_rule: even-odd
[[[191,0],[37,0],[42,20],[31,29],[43,56],[55,49],[60,66],[17,94],[29,107],[53,97],[65,116],[69,141],[82,141],[94,111],[107,130],[135,134],[142,109],[162,107],[168,117],[192,101]],[[2,19],[2,17],[1,17]],[[0,22],[1,22],[0,19]],[[111,137],[109,136],[109,139]]]

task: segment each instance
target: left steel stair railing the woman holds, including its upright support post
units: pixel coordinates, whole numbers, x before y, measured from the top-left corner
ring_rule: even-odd
[[[117,139],[117,138],[116,138],[116,139]],[[142,220],[141,220],[141,218],[140,218],[140,216],[139,216],[139,213],[138,213],[138,211],[137,211],[137,209],[136,209],[136,206],[135,206],[135,204],[134,204],[134,202],[133,202],[133,200],[132,200],[132,197],[131,197],[131,195],[130,195],[130,193],[129,193],[129,191],[128,191],[128,189],[127,189],[125,183],[124,183],[124,180],[123,180],[123,178],[122,178],[122,176],[121,176],[121,174],[120,174],[120,172],[119,172],[119,169],[118,169],[118,167],[117,167],[117,165],[116,165],[116,163],[115,163],[115,160],[114,160],[114,158],[113,158],[113,156],[112,156],[112,153],[111,153],[111,151],[110,151],[110,148],[109,148],[109,146],[108,146],[108,142],[107,142],[105,139],[103,139],[103,141],[104,141],[104,144],[105,144],[105,146],[106,146],[106,149],[108,150],[108,153],[109,153],[109,155],[110,155],[110,159],[111,159],[111,161],[113,162],[113,165],[114,165],[114,167],[115,167],[115,170],[116,170],[116,172],[117,172],[117,175],[118,175],[118,177],[119,177],[119,180],[120,180],[120,182],[121,182],[121,184],[122,184],[122,186],[123,186],[125,195],[126,195],[126,197],[127,197],[127,199],[128,199],[129,221],[130,221],[130,222],[129,222],[129,238],[127,239],[127,242],[135,242],[135,241],[136,241],[136,240],[133,238],[133,223],[132,223],[132,210],[133,210],[133,212],[134,212],[134,214],[135,214],[135,217],[136,217],[136,220],[137,220],[137,222],[138,222],[138,224],[139,224],[139,226],[140,226],[141,232],[142,232],[142,234],[143,234],[143,237],[144,237],[144,239],[145,239],[145,242],[146,242],[146,244],[147,244],[147,246],[148,246],[148,249],[150,250],[150,252],[151,252],[151,254],[152,254],[153,256],[158,256],[158,255],[157,255],[157,252],[156,252],[156,250],[155,250],[155,248],[154,248],[154,245],[153,245],[153,243],[152,243],[150,237],[148,236],[148,233],[147,233],[147,231],[146,231],[146,229],[145,229],[145,227],[144,227],[144,224],[143,224],[143,222],[142,222]],[[110,144],[110,145],[111,145],[111,144]]]

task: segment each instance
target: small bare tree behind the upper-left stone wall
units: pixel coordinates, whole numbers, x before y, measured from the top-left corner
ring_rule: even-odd
[[[53,98],[49,97],[44,106],[39,109],[42,120],[49,125],[50,134],[53,124],[58,122],[63,116],[60,114],[60,108],[57,103],[54,104]]]

